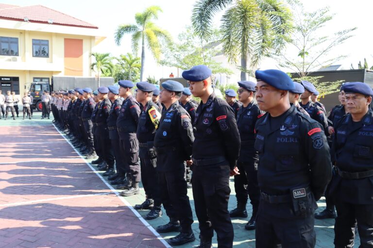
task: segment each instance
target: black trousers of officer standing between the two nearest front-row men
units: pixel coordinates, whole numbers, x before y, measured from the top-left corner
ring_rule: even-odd
[[[246,206],[248,197],[253,209],[257,209],[260,200],[260,189],[258,186],[256,163],[252,162],[238,162],[237,168],[239,175],[235,176],[235,191],[237,203]]]

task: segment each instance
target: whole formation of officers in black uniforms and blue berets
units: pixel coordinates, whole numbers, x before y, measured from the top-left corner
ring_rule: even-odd
[[[89,88],[61,93],[52,99],[52,112],[88,158],[97,153],[93,163],[106,169],[104,175],[123,189],[122,196],[138,194],[141,175],[146,199],[135,208],[151,209],[145,218],[153,219],[162,215],[164,205],[170,222],[157,231],[180,232],[171,245],[195,239],[187,167],[193,172],[200,248],[212,247],[213,231],[219,247],[232,247],[231,217],[247,217],[249,197],[253,213],[245,228],[256,229],[256,247],[314,247],[314,211],[324,194],[335,198],[336,247],[353,245],[356,220],[362,247],[370,247],[373,156],[372,142],[364,139],[373,134],[372,113],[365,107],[372,90],[363,83],[345,84],[356,113],[328,126],[324,109],[311,102],[317,93],[312,84],[295,83],[278,70],[256,71],[255,76],[257,83],[238,83],[242,105],[237,107],[215,96],[211,70],[199,65],[183,72],[189,89],[175,81],[162,83],[162,105],[152,101],[154,85],[137,83],[135,98],[134,84],[122,80],[119,88],[100,87],[96,93]],[[198,107],[190,94],[201,98]],[[330,134],[332,151],[326,139]],[[331,161],[335,175],[329,185]],[[235,176],[237,208],[229,212],[230,176]],[[350,196],[354,190],[363,192]]]

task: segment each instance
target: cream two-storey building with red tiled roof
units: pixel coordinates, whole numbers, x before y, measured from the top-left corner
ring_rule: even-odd
[[[0,90],[22,94],[52,76],[93,77],[89,55],[106,38],[101,32],[43,5],[0,3]]]

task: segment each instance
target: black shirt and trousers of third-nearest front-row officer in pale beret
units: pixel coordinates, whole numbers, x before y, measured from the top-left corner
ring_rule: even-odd
[[[191,231],[193,215],[184,178],[184,161],[192,155],[193,128],[179,102],[164,108],[154,138],[161,201],[171,221],[180,220],[182,232]]]

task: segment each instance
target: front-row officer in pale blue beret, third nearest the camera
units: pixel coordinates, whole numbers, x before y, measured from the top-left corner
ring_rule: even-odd
[[[160,101],[165,107],[155,134],[154,147],[161,200],[170,222],[158,226],[156,230],[158,233],[180,232],[168,241],[171,246],[178,246],[195,240],[191,228],[192,209],[184,178],[184,161],[191,158],[194,136],[190,116],[178,101],[183,85],[167,80],[162,87]]]

